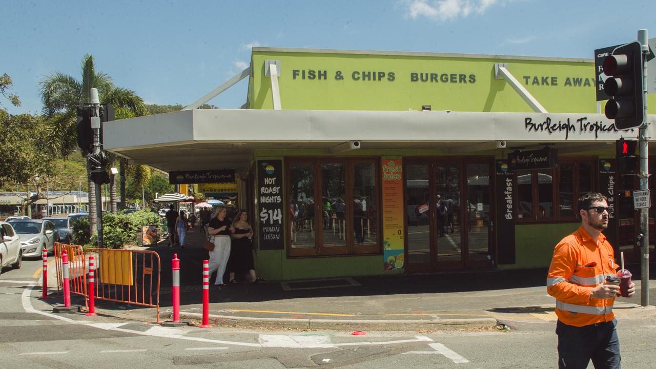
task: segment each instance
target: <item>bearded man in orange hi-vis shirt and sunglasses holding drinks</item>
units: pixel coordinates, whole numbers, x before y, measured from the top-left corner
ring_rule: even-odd
[[[554,249],[547,292],[556,297],[558,368],[620,368],[617,320],[613,303],[619,286],[605,284],[616,276],[613,248],[602,230],[608,227],[608,204],[604,195],[579,198],[581,227],[563,238]],[[628,295],[635,293],[631,283]]]

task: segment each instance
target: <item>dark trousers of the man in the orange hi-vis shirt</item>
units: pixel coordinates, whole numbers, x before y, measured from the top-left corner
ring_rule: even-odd
[[[595,369],[619,369],[616,325],[616,319],[584,327],[568,326],[558,320],[558,368],[585,369],[592,359]]]

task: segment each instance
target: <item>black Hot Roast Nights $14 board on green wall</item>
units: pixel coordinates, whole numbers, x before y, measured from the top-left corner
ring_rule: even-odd
[[[283,250],[282,160],[258,160],[257,204],[260,250]]]

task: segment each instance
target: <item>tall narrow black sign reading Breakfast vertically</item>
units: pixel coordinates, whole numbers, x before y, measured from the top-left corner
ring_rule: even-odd
[[[515,217],[512,203],[515,176],[507,160],[495,162],[495,187],[497,188],[497,263],[515,263]]]

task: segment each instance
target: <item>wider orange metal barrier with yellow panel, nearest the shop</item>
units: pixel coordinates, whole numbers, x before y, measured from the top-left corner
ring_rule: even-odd
[[[95,299],[157,308],[161,264],[155,251],[88,249],[96,261]]]

